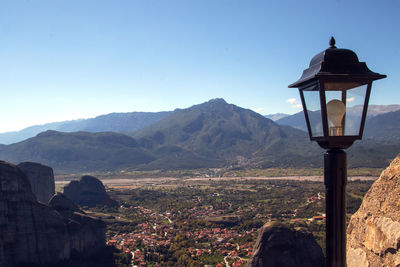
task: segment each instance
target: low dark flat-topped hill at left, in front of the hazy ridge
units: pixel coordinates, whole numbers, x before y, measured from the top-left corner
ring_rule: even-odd
[[[0,158],[12,163],[39,162],[69,173],[116,170],[154,160],[133,138],[123,134],[56,131],[4,146]]]

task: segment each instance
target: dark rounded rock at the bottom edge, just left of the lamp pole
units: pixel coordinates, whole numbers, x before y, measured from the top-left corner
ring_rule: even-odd
[[[324,254],[311,233],[281,224],[265,224],[247,267],[324,266]]]

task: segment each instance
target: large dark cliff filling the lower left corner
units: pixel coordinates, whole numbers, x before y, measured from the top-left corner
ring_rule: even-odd
[[[0,266],[55,266],[90,246],[95,245],[91,252],[104,247],[103,222],[77,211],[68,214],[39,203],[26,175],[0,161]]]

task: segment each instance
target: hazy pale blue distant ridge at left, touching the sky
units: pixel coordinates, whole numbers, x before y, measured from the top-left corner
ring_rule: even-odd
[[[170,112],[111,113],[91,119],[53,122],[31,126],[21,131],[0,133],[0,144],[17,143],[48,130],[60,132],[135,132],[164,117]]]

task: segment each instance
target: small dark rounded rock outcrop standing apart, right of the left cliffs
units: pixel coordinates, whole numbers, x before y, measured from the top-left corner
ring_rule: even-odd
[[[64,194],[80,206],[118,205],[108,196],[103,183],[93,176],[85,175],[79,181],[71,181],[64,186]]]

